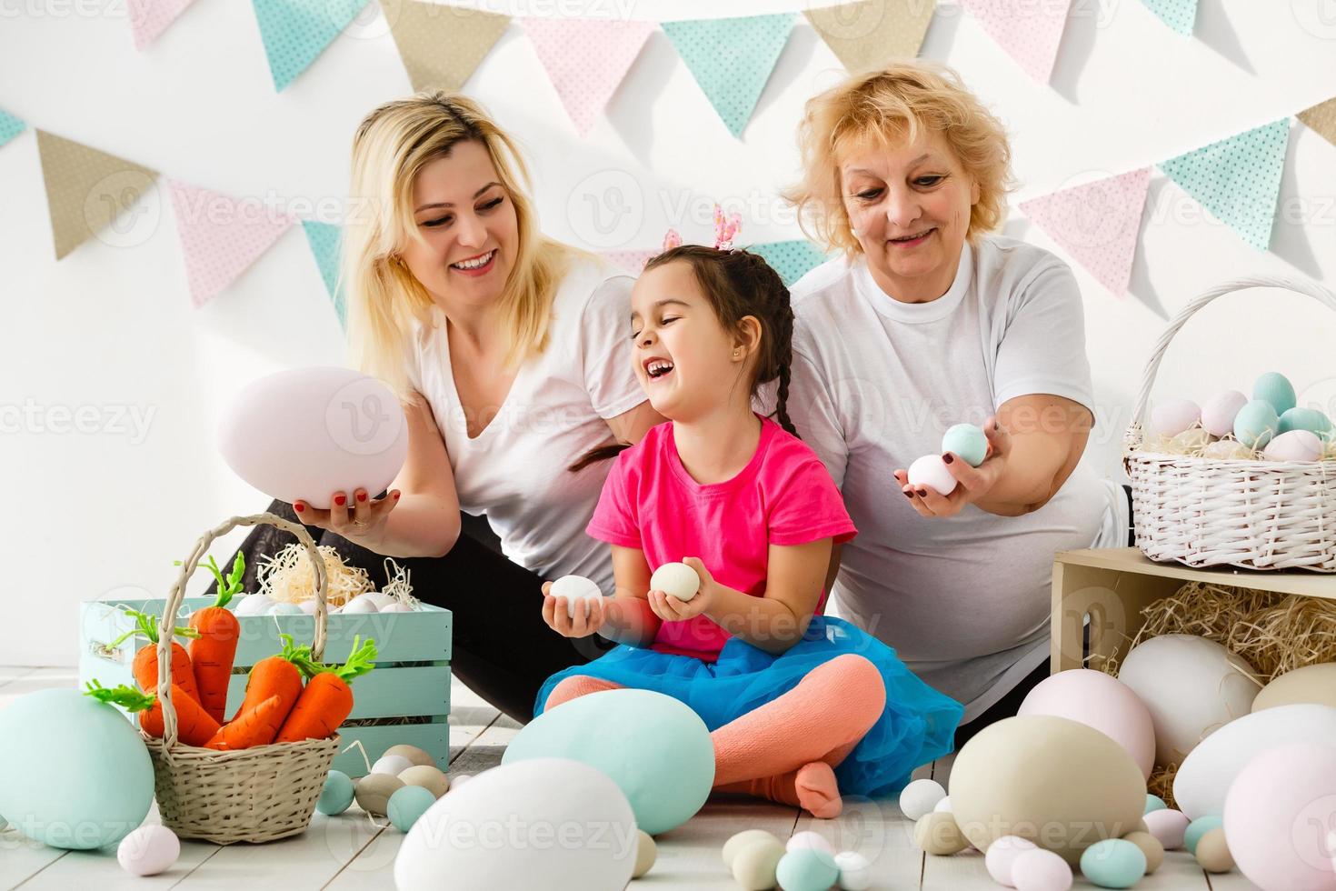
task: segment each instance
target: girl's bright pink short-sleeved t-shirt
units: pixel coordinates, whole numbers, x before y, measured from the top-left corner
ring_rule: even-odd
[[[640,548],[651,569],[700,557],[717,582],[763,597],[770,545],[820,538],[840,544],[858,530],[816,453],[762,418],[760,442],[747,466],[732,480],[707,485],[683,466],[672,422],[651,429],[617,456],[587,532]],[[823,590],[816,613],[824,606]],[[696,616],[663,622],[653,649],[709,663],[728,639],[711,618]]]

